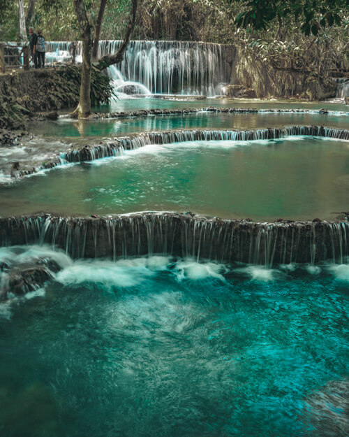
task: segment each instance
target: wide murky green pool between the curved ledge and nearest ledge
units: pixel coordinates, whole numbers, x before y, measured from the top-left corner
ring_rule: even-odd
[[[149,145],[0,187],[0,215],[175,210],[254,220],[348,211],[349,143],[290,137]]]

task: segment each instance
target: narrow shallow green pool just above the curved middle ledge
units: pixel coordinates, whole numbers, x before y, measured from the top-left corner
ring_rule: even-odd
[[[47,136],[114,136],[170,129],[262,129],[292,124],[316,124],[348,129],[348,115],[309,113],[195,113],[119,120],[66,120],[36,123],[36,134]]]

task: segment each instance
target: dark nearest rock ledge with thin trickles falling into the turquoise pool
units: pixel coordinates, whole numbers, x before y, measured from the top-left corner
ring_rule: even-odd
[[[275,264],[349,256],[349,223],[221,220],[191,213],[108,217],[31,215],[0,218],[2,246],[48,243],[73,258],[172,255],[218,262]]]

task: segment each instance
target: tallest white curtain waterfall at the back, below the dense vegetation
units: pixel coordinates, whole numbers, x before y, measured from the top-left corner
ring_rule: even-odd
[[[121,43],[100,41],[98,55],[116,53]],[[47,52],[50,56],[57,52],[71,55],[72,43],[47,42]],[[82,55],[81,41],[77,43],[76,52]],[[155,94],[213,96],[220,94],[219,83],[228,82],[225,46],[214,43],[131,41],[118,67],[123,78],[141,83]]]

